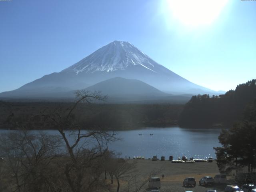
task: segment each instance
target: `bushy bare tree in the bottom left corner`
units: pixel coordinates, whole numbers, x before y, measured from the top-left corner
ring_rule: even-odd
[[[51,163],[57,158],[60,140],[44,133],[10,132],[0,137],[5,180],[10,191],[44,191],[52,179]],[[48,190],[50,191],[50,190]]]

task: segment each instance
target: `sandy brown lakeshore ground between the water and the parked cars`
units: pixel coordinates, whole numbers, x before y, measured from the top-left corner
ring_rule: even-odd
[[[161,179],[161,192],[205,192],[208,189],[215,189],[223,192],[226,184],[215,184],[213,186],[199,186],[199,180],[203,176],[214,177],[219,173],[216,162],[196,162],[194,164],[178,164],[165,161],[152,160],[128,160],[129,162],[137,162],[136,169],[142,174],[149,174],[154,169],[161,169],[156,177]],[[164,179],[161,178],[164,174]],[[194,177],[196,179],[195,187],[184,187],[183,180],[186,177]],[[147,184],[148,186],[148,184]]]

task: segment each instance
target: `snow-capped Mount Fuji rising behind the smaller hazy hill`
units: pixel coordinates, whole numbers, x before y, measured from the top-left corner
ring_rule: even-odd
[[[114,41],[61,72],[2,92],[0,97],[58,97],[116,77],[140,80],[168,94],[218,94],[158,64],[129,42]]]

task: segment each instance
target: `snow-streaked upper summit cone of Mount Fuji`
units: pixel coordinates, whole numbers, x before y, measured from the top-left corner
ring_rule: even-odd
[[[96,71],[112,72],[136,65],[155,72],[154,66],[159,64],[130,42],[113,41],[63,71],[74,71],[76,74]]]

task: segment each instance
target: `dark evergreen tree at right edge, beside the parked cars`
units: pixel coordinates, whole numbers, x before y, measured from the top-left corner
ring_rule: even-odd
[[[219,141],[222,147],[214,148],[220,171],[230,171],[248,167],[252,172],[256,167],[256,100],[250,103],[244,120],[235,123],[229,130],[222,130]]]

